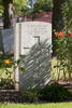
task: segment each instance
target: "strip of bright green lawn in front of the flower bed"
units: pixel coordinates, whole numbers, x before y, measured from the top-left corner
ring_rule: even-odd
[[[42,105],[0,105],[0,108],[72,108],[72,103]]]

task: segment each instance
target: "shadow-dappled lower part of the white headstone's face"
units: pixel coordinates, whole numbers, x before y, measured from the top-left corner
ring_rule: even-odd
[[[44,86],[51,81],[52,45],[46,41],[34,44],[25,55],[25,72],[20,71],[20,87]]]

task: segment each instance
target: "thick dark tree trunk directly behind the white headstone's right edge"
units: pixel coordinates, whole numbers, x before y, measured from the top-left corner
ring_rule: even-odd
[[[63,14],[62,14],[62,5],[66,3],[66,0],[53,0],[53,30],[61,31],[64,27],[63,23]],[[57,49],[56,37],[53,31],[53,53],[55,53]]]

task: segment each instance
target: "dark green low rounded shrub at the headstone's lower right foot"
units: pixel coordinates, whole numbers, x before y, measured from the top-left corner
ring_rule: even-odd
[[[42,99],[47,102],[63,102],[69,100],[71,94],[60,84],[46,85],[41,91]]]

